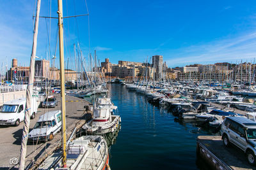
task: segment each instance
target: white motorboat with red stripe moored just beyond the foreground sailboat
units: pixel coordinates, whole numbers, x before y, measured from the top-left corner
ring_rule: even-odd
[[[121,118],[119,115],[113,115],[117,106],[114,106],[110,98],[97,98],[95,108],[93,109],[93,118],[84,124],[82,129],[86,134],[106,134],[118,129]]]

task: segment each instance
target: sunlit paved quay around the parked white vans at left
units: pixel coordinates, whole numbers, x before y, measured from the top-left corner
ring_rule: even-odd
[[[29,129],[33,129],[40,115],[43,115],[47,111],[52,110],[61,110],[61,100],[60,96],[56,96],[58,100],[58,106],[55,108],[38,108],[38,113],[36,114],[36,118],[31,120]],[[70,134],[74,130],[75,127],[81,127],[88,118],[92,116],[92,112],[84,111],[84,106],[88,105],[87,101],[83,99],[79,99],[77,97],[66,96],[66,114],[67,114],[67,139]],[[24,123],[21,122],[18,127],[7,127],[0,126],[0,169],[1,167],[9,167],[15,166],[14,164],[10,164],[10,159],[19,159],[20,155],[20,143],[22,138],[22,128]],[[53,150],[58,148],[61,143],[61,134],[58,132],[52,141],[47,141],[47,143],[38,143],[38,145],[29,144],[27,145],[27,157],[26,157],[26,166],[28,166],[31,162],[33,162],[36,157],[36,161],[34,163],[39,163],[44,159],[44,156],[47,153],[51,153]],[[17,167],[17,166],[15,166]]]

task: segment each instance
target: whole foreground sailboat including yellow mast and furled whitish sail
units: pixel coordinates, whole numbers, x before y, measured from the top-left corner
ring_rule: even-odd
[[[38,8],[39,6],[39,8]],[[36,24],[38,27],[40,0],[38,0],[38,6],[36,9]],[[64,49],[63,49],[63,9],[62,1],[58,0],[58,27],[59,27],[59,46],[60,46],[60,80],[61,80],[61,134],[62,134],[62,145],[61,150],[57,150],[52,153],[45,161],[38,167],[38,169],[106,169],[108,168],[109,152],[106,140],[102,136],[82,136],[74,139],[73,141],[66,139],[66,108],[65,108],[65,71],[64,71]],[[37,32],[36,32],[37,36]],[[35,40],[35,37],[34,37]],[[36,48],[36,44],[33,48]],[[34,51],[35,52],[35,51]],[[34,58],[33,58],[34,57]],[[31,56],[31,60],[35,59],[35,53]],[[33,62],[32,62],[33,63]],[[33,65],[33,64],[32,64]],[[35,64],[34,64],[35,66]],[[30,74],[29,74],[30,76]],[[33,76],[31,77],[31,79]],[[30,79],[30,77],[29,77]],[[27,93],[29,94],[29,92]],[[29,106],[29,101],[27,101]],[[28,112],[28,111],[26,111]],[[28,115],[28,114],[26,114]],[[25,117],[26,119],[26,117]],[[25,144],[28,140],[28,124],[24,125],[24,132],[22,144]],[[71,138],[70,138],[71,139]],[[22,146],[23,146],[22,145]],[[26,150],[21,148],[20,153],[20,167],[24,169],[25,165]]]

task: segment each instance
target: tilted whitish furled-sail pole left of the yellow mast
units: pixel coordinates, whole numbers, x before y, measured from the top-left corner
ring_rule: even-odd
[[[29,132],[30,113],[31,113],[31,96],[33,94],[33,85],[34,85],[34,78],[35,78],[35,58],[36,58],[36,45],[37,45],[40,4],[41,4],[41,0],[38,0],[37,7],[36,7],[36,20],[35,20],[35,27],[34,27],[33,46],[32,46],[32,52],[30,57],[29,80],[28,80],[28,87],[26,90],[26,107],[25,107],[24,127],[22,132],[22,141],[21,141],[21,148],[20,148],[19,170],[25,169],[25,159],[26,159],[26,153],[27,153],[28,132]]]

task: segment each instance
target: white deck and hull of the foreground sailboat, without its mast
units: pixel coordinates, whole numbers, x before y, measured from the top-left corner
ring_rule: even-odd
[[[61,169],[62,152],[53,153],[38,169]],[[67,166],[65,169],[107,169],[109,152],[102,136],[82,136],[67,146]]]

